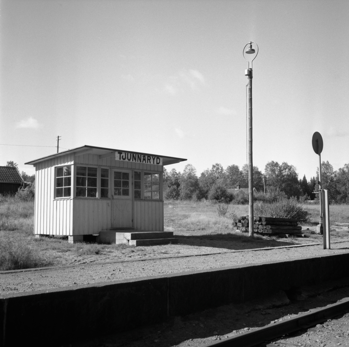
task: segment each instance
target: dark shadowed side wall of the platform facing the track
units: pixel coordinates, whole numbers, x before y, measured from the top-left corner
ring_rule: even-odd
[[[69,344],[280,290],[349,277],[349,252],[103,282],[30,293],[0,294],[0,346]],[[44,317],[44,320],[43,320]],[[38,324],[66,322],[52,333]],[[70,323],[69,323],[70,324]],[[40,325],[40,326],[41,326]],[[43,325],[44,326],[44,325]],[[18,333],[18,327],[20,332]]]

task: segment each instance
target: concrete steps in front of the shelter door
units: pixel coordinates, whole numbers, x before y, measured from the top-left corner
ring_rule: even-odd
[[[102,230],[99,232],[101,243],[127,243],[133,246],[149,246],[168,243],[178,243],[178,238],[173,237],[172,231],[147,231],[147,230]]]

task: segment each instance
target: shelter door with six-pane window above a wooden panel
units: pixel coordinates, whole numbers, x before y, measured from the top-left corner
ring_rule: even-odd
[[[113,169],[112,228],[132,228],[132,172]]]

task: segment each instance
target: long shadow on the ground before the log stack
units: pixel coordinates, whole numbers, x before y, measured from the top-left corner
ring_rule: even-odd
[[[297,244],[297,238],[292,239],[292,241],[286,241],[286,239],[274,239],[255,235],[255,237],[252,239],[248,237],[247,234],[246,236],[236,234],[214,234],[198,236],[176,235],[175,237],[178,237],[179,243],[183,245],[213,247],[228,250],[292,246]]]

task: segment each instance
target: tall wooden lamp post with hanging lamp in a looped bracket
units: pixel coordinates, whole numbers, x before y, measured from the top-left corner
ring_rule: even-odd
[[[252,47],[254,43],[257,47],[257,52]],[[248,45],[248,50],[245,51]],[[245,54],[248,56],[245,57]],[[251,55],[250,55],[251,54]],[[252,161],[252,62],[257,57],[258,45],[255,42],[250,42],[245,45],[243,50],[243,57],[248,62],[248,69],[245,70],[245,76],[247,76],[248,83],[248,235],[253,237],[253,224],[254,224],[254,214],[253,214],[253,161]],[[246,59],[249,58],[249,59]],[[251,59],[252,58],[252,59]],[[251,61],[251,68],[250,68]]]

